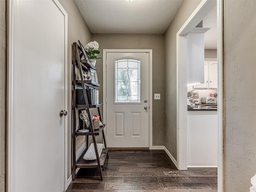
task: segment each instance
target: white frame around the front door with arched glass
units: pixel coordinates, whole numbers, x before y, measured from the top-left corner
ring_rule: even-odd
[[[106,124],[106,56],[107,53],[111,52],[134,52],[134,53],[149,53],[149,149],[152,149],[153,146],[153,91],[152,91],[152,49],[103,49],[103,123]],[[106,124],[106,126],[108,126]]]

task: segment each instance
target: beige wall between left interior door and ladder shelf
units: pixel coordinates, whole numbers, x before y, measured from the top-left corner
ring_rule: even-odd
[[[60,4],[68,13],[68,176],[71,175],[71,152],[72,152],[72,49],[71,45],[73,42],[78,42],[80,40],[82,44],[87,44],[92,38],[92,34],[86,25],[78,7],[76,6],[74,0],[59,0]],[[77,137],[78,149],[84,142],[85,137]]]

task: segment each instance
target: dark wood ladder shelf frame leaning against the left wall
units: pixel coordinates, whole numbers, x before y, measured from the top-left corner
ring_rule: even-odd
[[[73,99],[72,99],[72,110],[73,110],[73,150],[72,150],[72,180],[75,180],[76,178],[76,168],[98,168],[100,172],[100,179],[103,180],[103,174],[102,174],[102,166],[104,165],[105,159],[108,158],[108,148],[106,145],[106,139],[104,134],[104,128],[105,124],[101,126],[98,130],[94,130],[92,127],[92,114],[90,109],[92,108],[98,108],[98,114],[100,116],[100,121],[102,122],[101,115],[100,115],[100,106],[103,106],[102,103],[97,105],[89,105],[88,102],[88,96],[86,92],[86,88],[91,87],[95,88],[97,86],[100,86],[100,84],[93,82],[93,81],[85,81],[83,76],[83,71],[89,70],[89,68],[93,68],[94,70],[97,70],[89,61],[87,60],[81,60],[82,54],[79,54],[78,50],[82,50],[80,46],[78,46],[77,43],[72,44],[72,64],[73,64]],[[76,80],[76,67],[78,67],[81,80]],[[74,83],[76,82],[76,83]],[[77,105],[76,104],[76,86],[82,87],[83,93],[84,93],[84,105]],[[76,110],[78,108],[84,108],[89,116],[90,121],[90,132],[87,133],[80,133],[76,131]],[[102,150],[102,154],[99,156],[98,154],[98,148],[96,143],[95,136],[100,135],[102,133],[103,142],[104,142],[104,149]],[[86,149],[82,153],[82,155],[78,158],[76,161],[76,137],[77,136],[86,136]],[[96,160],[84,160],[83,156],[88,150],[89,147],[89,136],[92,136],[92,141],[94,144],[94,150],[96,154]]]

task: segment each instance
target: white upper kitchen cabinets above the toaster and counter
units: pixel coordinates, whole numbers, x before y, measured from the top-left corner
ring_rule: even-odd
[[[204,83],[193,86],[194,89],[217,89],[218,65],[217,60],[204,61]]]

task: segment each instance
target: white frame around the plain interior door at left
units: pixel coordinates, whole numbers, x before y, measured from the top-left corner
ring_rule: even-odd
[[[68,14],[58,2],[58,0],[52,0],[58,9],[64,15],[64,44],[65,44],[65,80],[64,80],[64,110],[68,111]],[[17,18],[17,6],[18,0],[8,1],[8,56],[7,56],[7,191],[14,190],[14,143],[15,143],[15,33],[16,33],[16,18]],[[71,115],[71,114],[70,114]],[[63,190],[68,188],[68,118],[64,118],[64,181]]]

